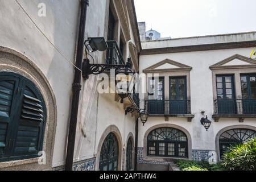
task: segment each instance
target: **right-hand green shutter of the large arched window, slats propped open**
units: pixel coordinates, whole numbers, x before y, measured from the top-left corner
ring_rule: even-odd
[[[21,96],[13,155],[37,156],[43,143],[44,104],[35,86],[26,80],[23,80]]]

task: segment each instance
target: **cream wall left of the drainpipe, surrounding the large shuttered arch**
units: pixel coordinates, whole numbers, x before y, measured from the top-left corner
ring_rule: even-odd
[[[79,1],[18,1],[40,30],[73,62]],[[46,4],[46,17],[38,16],[39,3]],[[49,43],[15,0],[0,0],[0,45],[27,56],[47,77],[57,103],[57,129],[53,166],[64,160],[73,82],[73,65]]]

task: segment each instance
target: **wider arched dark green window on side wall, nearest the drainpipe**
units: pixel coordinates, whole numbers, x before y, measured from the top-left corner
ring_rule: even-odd
[[[118,169],[118,141],[113,133],[104,140],[101,147],[100,171],[117,171]]]

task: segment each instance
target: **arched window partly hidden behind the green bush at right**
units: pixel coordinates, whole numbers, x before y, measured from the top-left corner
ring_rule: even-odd
[[[220,135],[220,156],[227,151],[227,147],[235,146],[256,137],[256,131],[249,129],[232,129]]]

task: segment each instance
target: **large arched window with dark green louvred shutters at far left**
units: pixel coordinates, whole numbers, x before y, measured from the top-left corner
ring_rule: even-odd
[[[38,157],[45,119],[36,86],[16,73],[0,72],[0,162]]]

